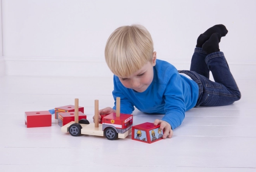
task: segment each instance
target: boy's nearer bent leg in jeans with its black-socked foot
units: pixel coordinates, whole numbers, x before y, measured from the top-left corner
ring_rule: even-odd
[[[214,33],[202,48],[207,52],[205,62],[213,74],[214,81],[202,77],[203,94],[198,105],[223,106],[240,99],[239,88],[228,67],[223,52],[219,51],[220,34]],[[213,52],[214,51],[214,52]]]

